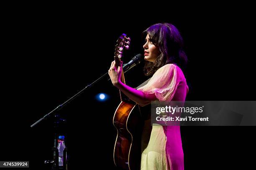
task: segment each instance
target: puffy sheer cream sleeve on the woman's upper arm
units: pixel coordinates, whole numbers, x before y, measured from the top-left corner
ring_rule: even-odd
[[[159,68],[148,83],[137,90],[146,94],[155,94],[160,101],[172,100],[177,90],[177,69],[174,64],[167,64]]]

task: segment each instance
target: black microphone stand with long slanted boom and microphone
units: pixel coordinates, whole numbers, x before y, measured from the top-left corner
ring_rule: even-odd
[[[131,65],[130,67],[128,67],[125,71],[127,72],[128,70],[130,70],[132,67],[134,67],[135,65],[138,65],[140,63],[137,62],[133,65]],[[126,64],[125,64],[126,65]],[[42,120],[46,119],[47,117],[49,117],[49,115],[54,112],[55,110],[60,110],[64,105],[67,105],[69,102],[71,102],[72,100],[74,100],[76,97],[78,97],[82,92],[84,92],[84,90],[86,90],[87,88],[89,87],[92,87],[92,85],[94,85],[96,82],[98,82],[99,80],[101,80],[103,77],[105,77],[106,75],[108,75],[108,72],[106,72],[104,75],[100,76],[97,80],[95,80],[94,82],[92,82],[91,84],[87,85],[86,87],[84,87],[84,89],[80,90],[77,94],[75,94],[74,96],[70,97],[67,101],[65,101],[64,103],[60,104],[59,106],[57,106],[54,110],[52,110],[51,112],[49,112],[48,114],[44,115],[44,117],[42,117],[41,119],[37,120],[33,125],[31,125],[31,128],[33,128],[36,124],[38,124],[39,122],[41,122]],[[110,79],[108,79],[110,80]],[[64,170],[67,168],[67,164],[66,164],[66,154],[67,154],[67,147],[65,148],[66,150],[65,153],[64,153],[64,160],[65,162],[63,161],[63,165],[64,165],[64,168],[61,168],[59,167],[59,151],[57,149],[57,139],[56,139],[56,135],[57,135],[57,128],[58,128],[58,124],[60,122],[60,120],[62,120],[58,114],[54,114],[54,117],[55,117],[55,120],[54,120],[54,136],[55,136],[55,139],[54,139],[54,147],[52,147],[52,151],[54,152],[54,160],[46,160],[45,163],[48,164],[48,163],[52,163],[53,164],[53,167],[52,167],[52,170]],[[65,120],[64,120],[65,121]],[[66,169],[67,170],[67,169]]]

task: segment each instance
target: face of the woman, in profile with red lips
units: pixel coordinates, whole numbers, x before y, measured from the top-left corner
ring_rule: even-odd
[[[158,57],[161,52],[159,47],[155,46],[151,40],[149,35],[146,36],[146,43],[143,45],[144,50],[144,59],[150,62],[154,62],[156,57]]]

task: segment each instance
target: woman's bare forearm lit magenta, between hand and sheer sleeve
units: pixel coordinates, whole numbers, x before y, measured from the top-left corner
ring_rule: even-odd
[[[146,94],[132,87],[129,87],[128,85],[125,85],[123,82],[119,82],[115,86],[118,87],[127,97],[141,106],[145,106],[151,101],[156,100],[156,95],[154,93]]]

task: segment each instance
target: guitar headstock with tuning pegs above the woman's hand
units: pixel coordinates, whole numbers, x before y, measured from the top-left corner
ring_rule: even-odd
[[[126,34],[122,34],[115,45],[115,63],[120,65],[121,58],[123,57],[123,51],[129,49],[131,38],[126,37]]]

